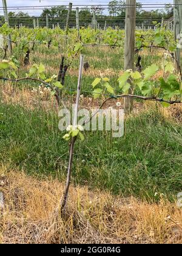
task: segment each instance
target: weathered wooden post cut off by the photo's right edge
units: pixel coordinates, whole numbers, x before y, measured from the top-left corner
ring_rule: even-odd
[[[175,40],[182,38],[182,0],[174,0],[174,37]],[[182,44],[179,42],[177,46],[177,50],[175,52],[175,57],[177,59],[178,65],[177,69],[180,71],[181,67],[181,48]]]

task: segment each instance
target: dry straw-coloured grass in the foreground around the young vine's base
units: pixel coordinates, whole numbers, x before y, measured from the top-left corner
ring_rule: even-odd
[[[63,190],[58,180],[36,180],[3,167],[0,180],[1,243],[182,243],[182,211],[175,204],[72,186],[62,219],[55,214]]]

